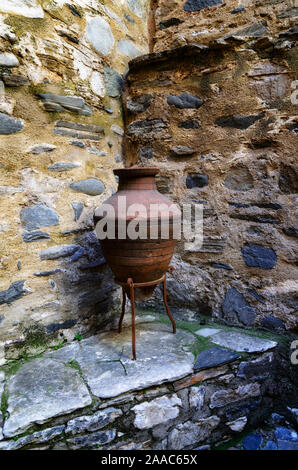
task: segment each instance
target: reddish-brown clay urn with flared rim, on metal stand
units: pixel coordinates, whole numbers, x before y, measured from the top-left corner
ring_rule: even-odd
[[[114,170],[118,191],[95,210],[95,231],[117,281],[125,283],[131,278],[134,283],[150,283],[168,270],[181,212],[157,190],[158,173],[157,167]],[[148,299],[155,287],[136,288],[136,300]],[[129,296],[128,290],[126,293]]]

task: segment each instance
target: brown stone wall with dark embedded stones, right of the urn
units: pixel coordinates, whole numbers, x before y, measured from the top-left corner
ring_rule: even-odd
[[[295,329],[297,5],[155,6],[154,52],[131,61],[124,94],[127,164],[160,166],[161,192],[204,208],[203,245],[179,243],[170,301]]]

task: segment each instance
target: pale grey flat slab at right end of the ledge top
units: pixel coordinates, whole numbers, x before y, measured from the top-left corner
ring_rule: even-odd
[[[250,336],[237,331],[221,331],[210,338],[212,343],[237,352],[265,352],[277,346],[276,341]]]

